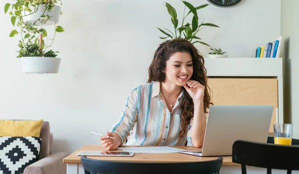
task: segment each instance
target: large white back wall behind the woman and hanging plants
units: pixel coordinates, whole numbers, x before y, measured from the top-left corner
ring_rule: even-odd
[[[13,2],[1,0],[1,10],[7,1]],[[59,73],[49,75],[21,72],[15,58],[19,38],[8,37],[13,27],[9,15],[0,12],[0,118],[49,121],[54,151],[99,144],[89,132],[105,133],[117,121],[130,92],[147,80],[161,42],[156,27],[172,28],[163,1],[63,0],[59,24],[65,32],[56,35],[52,46],[62,61]],[[166,1],[177,9],[180,23],[183,3]],[[229,8],[209,5],[198,13],[200,20],[221,26],[205,27],[198,37],[230,57],[251,57],[255,47],[281,33],[281,0],[242,0]],[[196,46],[203,55],[209,51]]]

